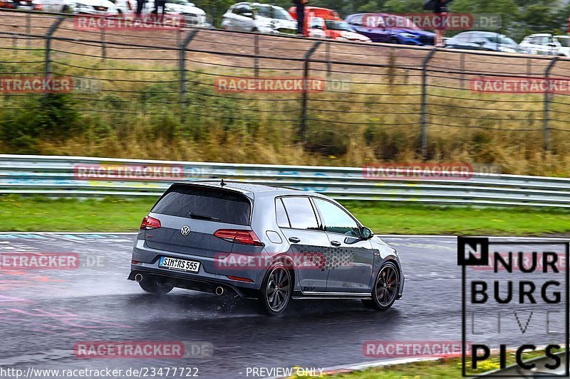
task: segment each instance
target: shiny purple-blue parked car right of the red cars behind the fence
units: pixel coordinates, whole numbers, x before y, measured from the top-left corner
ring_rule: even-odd
[[[373,42],[432,46],[435,34],[418,28],[409,18],[393,14],[351,14],[346,22]]]

